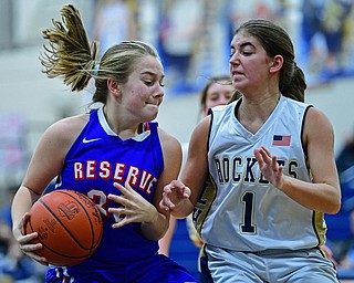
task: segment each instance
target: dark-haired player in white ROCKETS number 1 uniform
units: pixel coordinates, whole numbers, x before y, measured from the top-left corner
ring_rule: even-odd
[[[243,23],[230,74],[241,98],[197,125],[160,207],[178,218],[192,211],[214,282],[339,282],[321,250],[323,214],[341,207],[333,128],[304,103],[288,33],[267,20]]]

